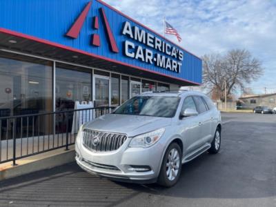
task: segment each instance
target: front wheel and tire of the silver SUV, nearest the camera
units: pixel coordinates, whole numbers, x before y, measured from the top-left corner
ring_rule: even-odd
[[[175,154],[174,150],[177,151],[177,154]],[[170,160],[169,155],[171,155],[172,153],[174,153],[175,155],[175,160]],[[178,160],[177,160],[177,155],[178,155]],[[181,174],[181,168],[182,168],[181,157],[182,157],[181,148],[176,142],[172,142],[172,144],[168,146],[162,161],[162,165],[161,165],[161,169],[160,169],[159,177],[157,181],[157,183],[160,186],[169,188],[174,186],[177,183],[179,176]],[[172,164],[171,161],[175,161],[175,162]],[[173,166],[173,169],[172,169],[172,166]],[[176,172],[176,175],[173,175],[173,172]]]

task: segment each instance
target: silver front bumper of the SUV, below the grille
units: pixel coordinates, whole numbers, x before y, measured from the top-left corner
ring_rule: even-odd
[[[128,148],[130,139],[115,151],[92,152],[79,141],[76,142],[77,164],[91,174],[126,182],[153,183],[157,181],[163,148],[155,144],[150,148]],[[147,166],[137,171],[133,166]]]

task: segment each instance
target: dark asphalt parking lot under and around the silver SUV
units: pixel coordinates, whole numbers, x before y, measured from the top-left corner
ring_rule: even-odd
[[[75,163],[0,183],[0,206],[276,206],[276,115],[224,113],[221,151],[176,186],[122,184]]]

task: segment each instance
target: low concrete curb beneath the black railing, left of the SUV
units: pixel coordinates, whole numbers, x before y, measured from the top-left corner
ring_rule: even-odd
[[[39,155],[30,156],[26,159],[19,159],[17,160],[17,166],[12,166],[10,162],[5,164],[4,166],[1,166],[3,165],[1,164],[0,181],[20,175],[26,175],[31,172],[37,172],[39,170],[54,168],[56,166],[61,166],[63,164],[75,161],[74,149],[68,151],[65,151],[64,149],[59,149],[53,150],[48,154],[46,153],[47,152],[41,153]]]

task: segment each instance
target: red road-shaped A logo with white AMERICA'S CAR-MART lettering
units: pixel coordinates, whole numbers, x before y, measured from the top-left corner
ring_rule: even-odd
[[[81,14],[79,14],[75,23],[73,23],[70,30],[66,33],[67,37],[77,39],[88,11],[90,10],[91,4],[90,1]],[[101,22],[103,23],[103,28],[106,32],[106,40],[110,46],[110,51],[119,53],[119,48],[115,41],[115,37],[112,34],[108,18],[106,17],[106,12],[103,8],[99,8],[99,14],[101,15]],[[94,30],[99,29],[98,17],[93,17],[92,28]],[[150,34],[150,32],[146,32],[146,30],[137,26],[131,26],[129,21],[123,23],[121,31],[121,35],[127,37],[127,40],[123,41],[123,51],[121,51],[123,53],[122,55],[155,65],[159,68],[164,68],[173,72],[181,72],[184,57],[184,52],[182,50],[179,50],[172,44]],[[97,47],[101,46],[99,34],[95,33],[91,35],[91,45]]]

